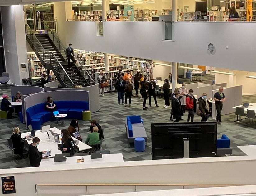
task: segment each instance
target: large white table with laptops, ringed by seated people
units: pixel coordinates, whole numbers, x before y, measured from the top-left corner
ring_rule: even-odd
[[[59,135],[61,134],[61,130],[57,129],[56,127],[50,128],[50,130],[52,130],[54,133],[58,133]],[[25,136],[30,135],[30,134],[31,134],[31,132],[22,133],[21,137],[24,138]],[[38,147],[37,147],[39,151],[44,151],[44,150],[47,150],[47,151],[51,150],[52,151],[51,152],[52,155],[49,156],[49,157],[54,157],[55,154],[61,154],[62,153],[61,150],[59,150],[58,146],[57,146],[58,144],[61,144],[61,143],[56,143],[53,140],[49,140],[47,132],[42,133],[40,130],[35,131],[35,137],[38,137],[41,140]],[[74,141],[78,140],[74,137],[72,137],[72,139]],[[27,140],[28,144],[32,143],[32,139],[31,140],[26,139],[26,140]],[[87,145],[87,144],[85,144],[81,141],[79,141],[77,146],[79,147],[79,151],[91,149],[91,146],[89,146],[89,145]]]

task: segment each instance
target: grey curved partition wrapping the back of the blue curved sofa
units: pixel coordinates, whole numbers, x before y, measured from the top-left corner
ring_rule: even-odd
[[[48,91],[43,93],[36,93],[24,98],[24,110],[26,111],[29,107],[44,103],[47,97],[51,96],[54,101],[88,101],[90,108],[90,96],[88,91],[84,90],[58,90]],[[25,122],[27,128],[27,114],[25,112]]]

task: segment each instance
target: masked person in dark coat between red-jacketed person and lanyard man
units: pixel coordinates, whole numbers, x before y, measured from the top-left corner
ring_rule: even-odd
[[[207,99],[207,94],[203,93],[202,97],[198,99],[198,110],[200,112],[197,112],[199,116],[201,116],[201,122],[206,122],[207,119],[210,116],[211,110],[210,110],[210,102]]]

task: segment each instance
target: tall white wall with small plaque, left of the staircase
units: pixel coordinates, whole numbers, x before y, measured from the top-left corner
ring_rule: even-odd
[[[1,7],[1,15],[6,72],[12,83],[21,85],[22,78],[29,77],[23,6]],[[21,63],[26,63],[26,72],[21,73]]]

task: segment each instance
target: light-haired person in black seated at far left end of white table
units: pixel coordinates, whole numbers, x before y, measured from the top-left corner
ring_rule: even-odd
[[[24,148],[24,142],[21,138],[21,131],[19,127],[14,127],[12,136],[11,136],[13,148],[14,148],[14,154],[20,155],[20,159],[23,158],[23,148]]]

